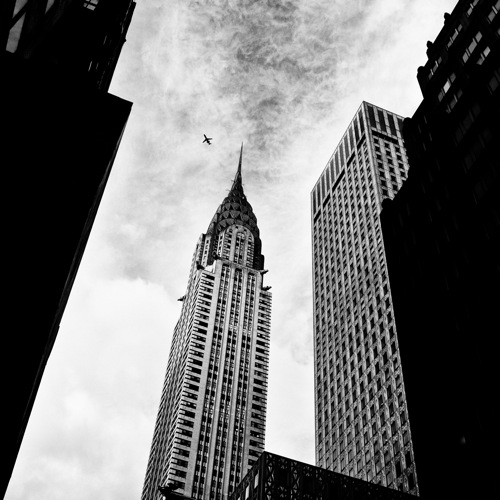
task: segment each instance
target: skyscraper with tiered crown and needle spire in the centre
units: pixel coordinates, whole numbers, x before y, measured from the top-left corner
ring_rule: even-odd
[[[142,498],[223,499],[264,449],[271,294],[241,178],[196,244]]]

